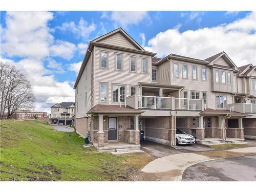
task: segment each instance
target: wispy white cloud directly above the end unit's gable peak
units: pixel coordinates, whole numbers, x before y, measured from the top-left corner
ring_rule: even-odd
[[[115,25],[123,28],[128,25],[138,25],[145,18],[150,18],[146,11],[112,11],[110,15]]]

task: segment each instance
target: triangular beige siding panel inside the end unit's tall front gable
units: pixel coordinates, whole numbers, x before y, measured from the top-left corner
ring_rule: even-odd
[[[121,33],[115,33],[107,38],[99,40],[98,42],[130,49],[138,49],[133,44],[131,44],[131,42],[127,40]]]

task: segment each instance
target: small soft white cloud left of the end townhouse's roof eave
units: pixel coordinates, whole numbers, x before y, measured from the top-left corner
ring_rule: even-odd
[[[68,41],[57,40],[56,43],[50,47],[50,55],[71,59],[74,55],[76,46]]]

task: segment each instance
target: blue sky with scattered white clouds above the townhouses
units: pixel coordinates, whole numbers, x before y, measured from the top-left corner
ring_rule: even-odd
[[[1,11],[1,59],[31,78],[36,110],[49,111],[54,102],[74,100],[89,41],[106,32],[122,27],[159,57],[225,51],[237,66],[255,65],[255,20],[250,11]]]

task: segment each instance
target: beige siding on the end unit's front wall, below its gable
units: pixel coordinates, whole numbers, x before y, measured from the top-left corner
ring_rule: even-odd
[[[108,70],[99,67],[100,51],[108,51]],[[123,54],[123,70],[115,70],[115,53]],[[139,94],[138,82],[151,82],[151,57],[139,55],[135,53],[116,51],[111,49],[103,49],[94,47],[94,105],[99,103],[99,84],[108,84],[108,102],[105,104],[118,104],[112,102],[112,86],[113,84],[125,86],[125,97],[130,96],[131,87],[136,87],[136,94]],[[130,72],[130,56],[136,57],[136,73]],[[142,73],[141,60],[147,58],[148,73]]]

